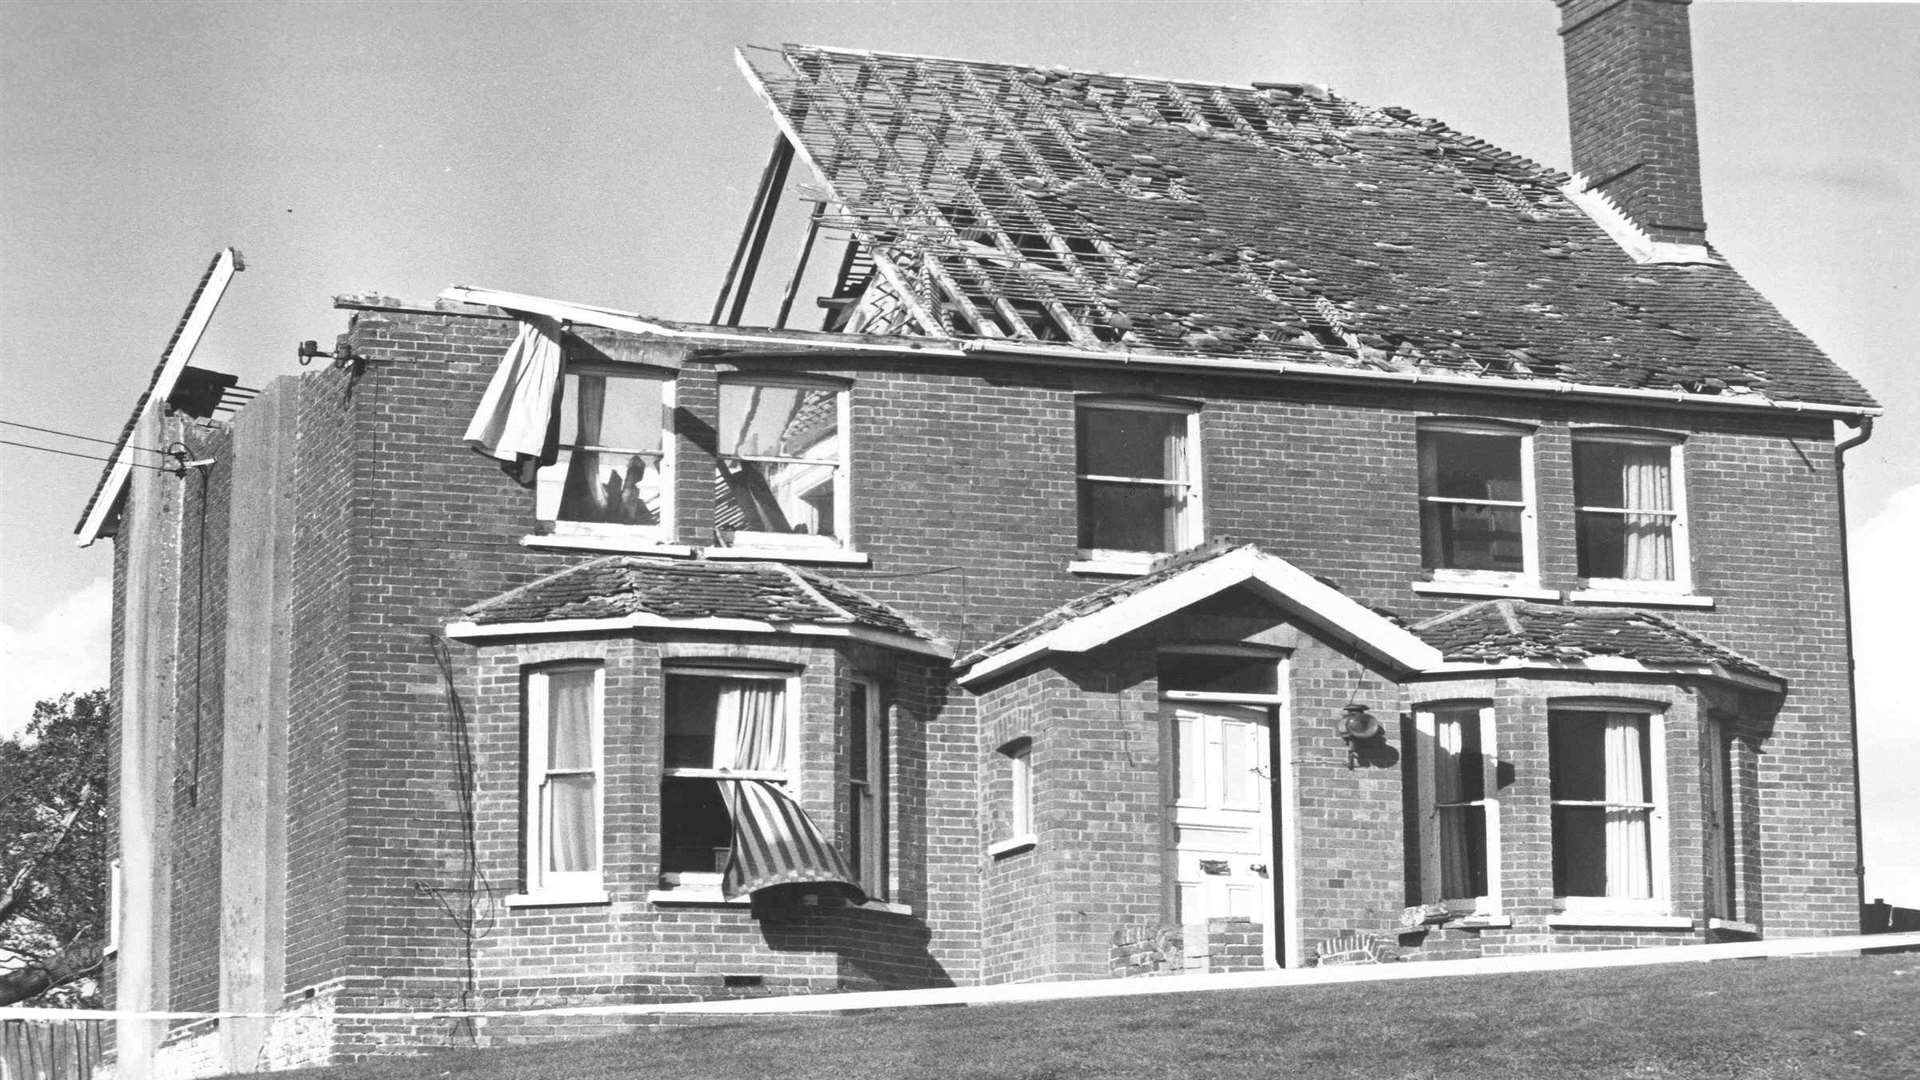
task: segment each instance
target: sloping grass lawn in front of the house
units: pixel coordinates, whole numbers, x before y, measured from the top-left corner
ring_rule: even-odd
[[[1920,953],[776,1017],[303,1080],[1920,1078]]]

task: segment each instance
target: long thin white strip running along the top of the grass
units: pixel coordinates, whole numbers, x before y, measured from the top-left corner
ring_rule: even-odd
[[[1327,986],[1342,982],[1400,982],[1465,974],[1523,974],[1540,970],[1590,970],[1617,967],[1659,967],[1732,959],[1805,957],[1860,949],[1920,947],[1920,932],[1857,934],[1847,938],[1784,938],[1772,942],[1728,942],[1720,945],[1657,945],[1647,949],[1607,949],[1597,953],[1524,953],[1459,961],[1413,961],[1354,967],[1308,967],[1277,970],[1236,970],[1223,974],[1165,974],[1100,978],[1085,982],[1012,982],[996,986],[941,986],[931,990],[870,990],[860,994],[791,994],[783,997],[728,997],[718,1001],[674,1001],[666,1005],[557,1005],[551,1009],[298,1009],[282,1013],[165,1013],[123,1009],[0,1009],[0,1020],[461,1020],[499,1017],[668,1017],[668,1015],[799,1015],[860,1013],[872,1009],[916,1009],[922,1005],[1002,1005],[1025,1001],[1069,1001],[1087,997],[1144,997],[1152,994],[1192,994],[1202,990],[1260,990],[1279,986]]]

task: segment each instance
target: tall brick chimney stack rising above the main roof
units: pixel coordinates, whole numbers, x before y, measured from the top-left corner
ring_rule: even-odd
[[[1705,244],[1690,0],[1553,0],[1572,167],[1657,242]]]

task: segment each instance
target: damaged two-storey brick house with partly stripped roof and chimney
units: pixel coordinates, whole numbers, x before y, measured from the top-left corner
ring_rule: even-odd
[[[1686,6],[1563,37],[1576,177],[1308,85],[745,50],[781,138],[710,323],[342,298],[213,423],[171,350],[129,436],[182,475],[81,527],[115,999],[278,1017],[123,1063],[1167,928],[1855,930],[1836,423],[1878,409],[1705,242]],[[741,327],[795,161],[806,265]]]

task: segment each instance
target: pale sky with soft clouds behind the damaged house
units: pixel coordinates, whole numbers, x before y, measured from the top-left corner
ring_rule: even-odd
[[[0,0],[0,438],[109,448],[200,273],[196,363],[263,386],[342,292],[705,319],[774,129],[739,44],[1327,83],[1569,167],[1548,0]],[[1920,907],[1920,4],[1692,8],[1709,238],[1885,405],[1847,455],[1868,896]],[[789,213],[791,217],[791,213]],[[102,463],[0,446],[0,734],[106,682]],[[1789,598],[1786,598],[1789,601]],[[1845,723],[1836,717],[1836,723]]]

